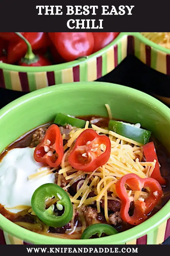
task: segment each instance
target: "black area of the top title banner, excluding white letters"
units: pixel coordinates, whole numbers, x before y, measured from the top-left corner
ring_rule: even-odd
[[[154,0],[29,0],[29,4],[25,5],[25,1],[6,0],[0,1],[0,24],[1,32],[27,31],[48,31],[48,32],[77,32],[77,29],[70,30],[67,28],[67,20],[69,19],[103,19],[103,30],[101,32],[122,31],[122,32],[156,32],[169,31],[169,8],[170,1],[154,1]],[[63,15],[38,15],[36,5],[62,5]],[[97,5],[99,9],[96,15],[66,15],[66,5]],[[134,5],[132,15],[101,15],[101,5],[111,5],[118,7],[119,5]],[[43,13],[43,12],[42,12]],[[163,31],[162,31],[163,29]],[[78,30],[79,31],[79,30]],[[81,32],[95,32],[93,29],[83,29]]]

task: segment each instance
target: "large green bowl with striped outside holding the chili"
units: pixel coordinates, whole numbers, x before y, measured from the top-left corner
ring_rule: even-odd
[[[118,84],[79,82],[55,85],[31,92],[0,110],[0,151],[22,134],[54,119],[57,112],[69,115],[107,116],[141,123],[170,149],[170,110],[151,96]],[[0,228],[8,244],[158,244],[170,235],[170,202],[139,226],[125,232],[90,240],[52,238],[26,230],[0,214]],[[24,241],[24,242],[23,242]]]

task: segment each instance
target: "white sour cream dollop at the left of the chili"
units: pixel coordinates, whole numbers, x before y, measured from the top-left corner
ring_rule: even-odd
[[[14,148],[0,162],[0,203],[5,208],[31,206],[34,191],[43,184],[54,183],[54,174],[28,179],[28,176],[47,169],[33,158],[35,148]],[[39,168],[41,170],[39,170]],[[8,209],[19,212],[18,209]]]

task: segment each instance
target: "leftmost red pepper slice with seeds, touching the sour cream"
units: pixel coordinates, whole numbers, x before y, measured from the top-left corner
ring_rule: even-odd
[[[63,155],[63,139],[59,127],[52,124],[48,127],[44,139],[36,146],[34,159],[54,168],[61,164]]]

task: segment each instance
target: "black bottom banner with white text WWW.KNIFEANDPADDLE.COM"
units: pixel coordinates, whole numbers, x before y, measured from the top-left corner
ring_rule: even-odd
[[[168,245],[1,245],[1,255],[58,255],[68,256],[71,253],[77,255],[92,255],[93,253],[104,255],[161,255],[169,250]]]

